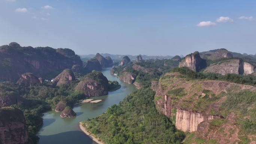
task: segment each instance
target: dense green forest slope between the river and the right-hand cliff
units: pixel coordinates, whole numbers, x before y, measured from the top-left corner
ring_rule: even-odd
[[[171,120],[158,113],[149,88],[129,94],[118,105],[84,123],[106,144],[179,144],[185,134],[177,131]]]

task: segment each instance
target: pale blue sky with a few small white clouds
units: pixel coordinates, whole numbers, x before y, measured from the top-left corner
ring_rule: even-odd
[[[0,45],[76,54],[256,53],[256,0],[0,0]]]

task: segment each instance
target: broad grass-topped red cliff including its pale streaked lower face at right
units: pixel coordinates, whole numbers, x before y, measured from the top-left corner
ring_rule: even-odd
[[[201,122],[222,118],[219,108],[227,91],[256,91],[249,85],[217,80],[187,81],[180,77],[179,73],[162,76],[155,90],[155,101],[156,108],[182,131],[193,132]]]

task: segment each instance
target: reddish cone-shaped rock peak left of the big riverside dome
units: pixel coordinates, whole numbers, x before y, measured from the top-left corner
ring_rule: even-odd
[[[76,80],[73,71],[70,69],[65,69],[62,73],[55,77],[55,79],[52,81],[52,84],[54,86],[67,85],[73,80]]]

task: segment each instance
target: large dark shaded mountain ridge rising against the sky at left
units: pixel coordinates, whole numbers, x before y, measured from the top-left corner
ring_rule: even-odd
[[[58,52],[57,52],[58,51]],[[73,50],[50,47],[21,47],[17,43],[0,46],[0,81],[16,82],[23,73],[33,73],[37,77],[51,79],[66,68],[82,65]]]

